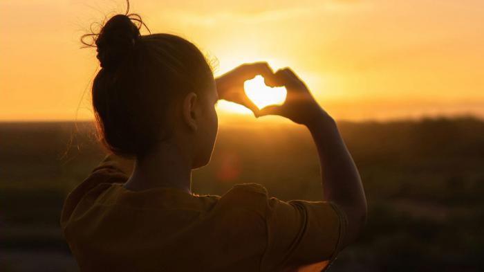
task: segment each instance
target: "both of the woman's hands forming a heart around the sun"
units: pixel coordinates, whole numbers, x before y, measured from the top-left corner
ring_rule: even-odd
[[[306,124],[315,116],[327,115],[288,67],[274,73],[267,62],[241,64],[216,78],[215,83],[218,99],[243,105],[257,118],[279,115]]]

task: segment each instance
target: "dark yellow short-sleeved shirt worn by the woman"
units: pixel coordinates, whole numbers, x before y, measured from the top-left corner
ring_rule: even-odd
[[[325,271],[341,250],[347,220],[332,202],[281,201],[257,183],[134,192],[131,170],[109,154],[64,203],[81,271]]]

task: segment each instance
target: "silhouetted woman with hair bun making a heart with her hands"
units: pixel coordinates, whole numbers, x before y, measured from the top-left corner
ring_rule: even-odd
[[[322,271],[366,220],[360,176],[333,119],[290,69],[243,64],[214,79],[194,44],[140,35],[139,17],[115,15],[95,35],[102,69],[93,108],[113,153],[71,192],[64,236],[82,271]],[[286,102],[257,109],[243,82],[263,75]],[[322,201],[281,201],[257,183],[222,196],[191,190],[210,161],[215,103],[245,105],[308,127],[323,172]],[[134,159],[134,164],[131,159]]]

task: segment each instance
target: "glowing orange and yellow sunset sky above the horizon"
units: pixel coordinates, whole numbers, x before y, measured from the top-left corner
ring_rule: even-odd
[[[0,120],[91,120],[99,63],[79,37],[124,10],[123,0],[0,0]],[[152,33],[194,42],[216,75],[290,66],[338,120],[484,118],[482,0],[131,0],[131,12]],[[223,102],[218,113],[252,118]]]

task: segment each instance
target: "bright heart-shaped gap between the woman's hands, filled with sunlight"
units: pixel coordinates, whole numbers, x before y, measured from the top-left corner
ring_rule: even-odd
[[[288,93],[286,87],[268,87],[261,75],[257,75],[252,80],[246,80],[243,83],[243,89],[245,96],[259,109],[269,105],[283,105]]]

